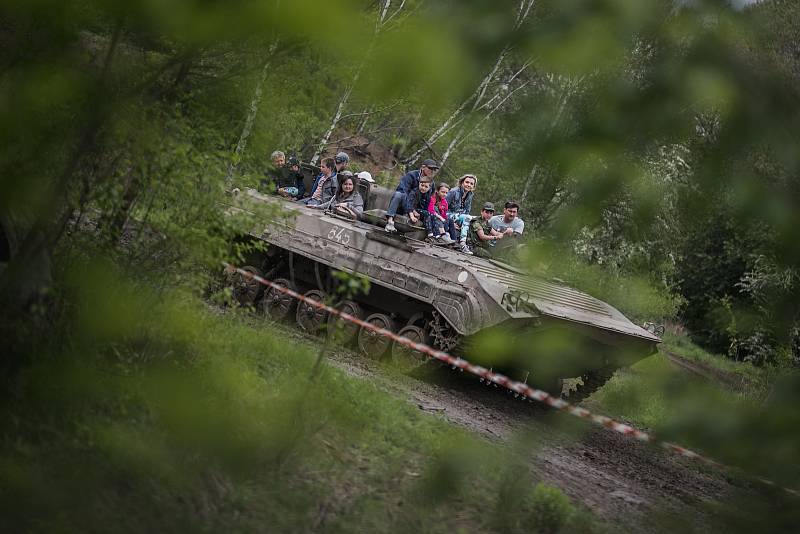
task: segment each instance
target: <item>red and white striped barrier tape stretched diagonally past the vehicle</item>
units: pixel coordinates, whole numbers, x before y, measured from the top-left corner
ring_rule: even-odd
[[[674,454],[677,454],[679,456],[683,456],[685,458],[691,458],[693,460],[697,460],[699,462],[702,462],[702,463],[704,463],[706,465],[714,466],[714,467],[717,467],[717,468],[720,468],[720,469],[728,468],[728,466],[726,466],[725,464],[721,464],[721,463],[717,462],[716,460],[712,460],[710,458],[706,458],[705,456],[703,456],[701,454],[698,454],[698,453],[696,453],[696,452],[694,452],[694,451],[692,451],[690,449],[687,449],[686,447],[681,447],[680,445],[676,445],[674,443],[669,443],[669,442],[666,442],[666,441],[659,441],[659,440],[655,439],[651,434],[648,434],[646,432],[642,432],[641,430],[633,428],[630,425],[626,425],[624,423],[620,423],[618,421],[615,421],[615,420],[611,419],[610,417],[606,417],[604,415],[593,414],[589,410],[586,410],[585,408],[580,408],[578,406],[570,404],[569,402],[567,402],[567,401],[565,401],[563,399],[559,399],[559,398],[553,397],[552,395],[550,395],[546,391],[542,391],[540,389],[532,388],[528,384],[524,384],[522,382],[517,382],[515,380],[512,380],[512,379],[508,378],[507,376],[505,376],[503,374],[495,373],[494,371],[490,371],[489,369],[486,369],[485,367],[481,367],[480,365],[472,364],[472,363],[470,363],[469,361],[467,361],[467,360],[465,360],[463,358],[459,358],[459,357],[456,357],[456,356],[451,356],[450,354],[447,354],[446,352],[442,352],[440,350],[434,349],[433,347],[425,345],[424,343],[417,343],[416,341],[412,341],[412,340],[410,340],[408,338],[398,336],[397,334],[395,334],[391,330],[385,330],[383,328],[378,328],[377,326],[375,326],[373,324],[370,324],[370,323],[368,323],[366,321],[363,321],[362,319],[359,319],[358,317],[354,317],[354,316],[350,315],[349,313],[345,313],[343,311],[337,310],[336,308],[328,306],[323,302],[319,302],[319,301],[316,301],[314,299],[308,298],[305,295],[301,295],[300,293],[298,293],[296,291],[292,291],[291,289],[288,289],[288,288],[283,287],[281,285],[278,285],[278,284],[275,284],[273,282],[270,282],[269,280],[266,280],[265,278],[262,278],[261,276],[253,274],[253,273],[251,273],[249,271],[245,271],[243,269],[240,269],[240,268],[235,267],[233,265],[230,265],[228,263],[224,263],[224,265],[225,265],[225,268],[230,272],[237,272],[240,275],[244,276],[245,278],[249,278],[251,280],[255,280],[256,282],[258,282],[258,283],[260,283],[262,285],[265,285],[267,287],[271,287],[271,288],[273,288],[273,289],[275,289],[277,291],[280,291],[281,293],[283,293],[285,295],[289,295],[290,297],[293,297],[293,298],[296,298],[297,300],[303,301],[303,302],[313,306],[314,308],[317,308],[318,310],[324,310],[324,311],[326,311],[328,313],[336,315],[336,316],[340,317],[341,319],[343,319],[345,321],[351,322],[353,324],[357,324],[358,326],[360,326],[362,328],[365,328],[365,329],[367,329],[367,330],[369,330],[371,332],[374,332],[375,334],[387,337],[387,338],[391,339],[392,341],[394,341],[396,343],[404,345],[404,346],[406,346],[406,347],[408,347],[410,349],[413,349],[413,350],[415,350],[417,352],[425,354],[425,355],[427,355],[427,356],[429,356],[431,358],[436,358],[437,360],[446,363],[447,365],[453,367],[454,369],[458,368],[458,369],[461,369],[463,371],[467,371],[467,372],[469,372],[469,373],[471,373],[471,374],[473,374],[473,375],[475,375],[477,377],[480,377],[480,378],[482,378],[482,379],[484,379],[486,381],[492,382],[494,384],[497,384],[498,386],[502,386],[502,387],[504,387],[504,388],[506,388],[506,389],[508,389],[510,391],[513,391],[514,393],[522,395],[523,397],[534,399],[534,400],[539,401],[541,403],[544,403],[544,404],[546,404],[546,405],[548,405],[548,406],[550,406],[552,408],[555,408],[557,410],[561,410],[562,412],[567,412],[567,413],[572,414],[575,417],[579,417],[581,419],[586,419],[587,421],[591,421],[592,423],[604,426],[605,428],[608,428],[610,430],[613,430],[613,431],[618,432],[620,434],[623,434],[625,436],[632,437],[632,438],[637,439],[639,441],[657,444],[661,448],[666,449],[666,450],[668,450],[668,451],[670,451],[670,452],[672,452]],[[781,489],[785,490],[786,492],[788,492],[788,493],[790,493],[790,494],[792,494],[792,495],[794,495],[796,497],[800,497],[800,491],[793,490],[793,489],[790,489],[790,488],[784,488],[782,486],[778,486],[774,482],[772,482],[770,480],[767,480],[767,479],[764,479],[764,478],[761,478],[761,477],[756,477],[756,479],[759,482],[762,482],[762,483],[767,484],[769,486],[780,487]]]

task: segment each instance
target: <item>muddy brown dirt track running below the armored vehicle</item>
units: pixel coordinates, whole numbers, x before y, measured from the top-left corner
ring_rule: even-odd
[[[703,530],[707,505],[734,489],[721,473],[696,462],[575,423],[568,415],[514,399],[435,362],[410,376],[398,376],[346,350],[332,351],[328,360],[489,440],[512,446],[517,437],[532,435],[526,454],[534,475],[621,530],[653,531],[656,515]]]

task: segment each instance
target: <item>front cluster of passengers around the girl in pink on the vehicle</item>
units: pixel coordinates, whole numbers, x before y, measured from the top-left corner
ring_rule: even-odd
[[[426,159],[418,170],[400,179],[386,210],[387,232],[395,232],[395,217],[405,214],[414,224],[424,223],[429,239],[484,257],[492,256],[497,241],[522,235],[525,223],[517,216],[516,202],[506,202],[502,215],[495,215],[494,204],[486,202],[480,216],[473,217],[472,199],[478,185],[475,175],[463,175],[451,189],[444,182],[434,183],[438,171],[439,164]]]

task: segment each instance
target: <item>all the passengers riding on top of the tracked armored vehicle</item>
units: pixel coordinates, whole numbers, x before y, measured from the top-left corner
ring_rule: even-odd
[[[350,157],[346,152],[322,160],[320,173],[308,192],[300,172],[300,161],[295,156],[287,161],[283,152],[275,151],[270,159],[273,167],[267,177],[275,184],[277,194],[310,208],[328,209],[352,218],[358,218],[364,211],[357,180],[371,183],[374,180],[368,172],[353,175],[348,171]],[[519,205],[516,202],[506,202],[502,215],[495,215],[494,204],[486,202],[480,215],[473,216],[470,214],[472,199],[478,185],[475,175],[463,175],[458,185],[450,188],[444,182],[434,183],[433,177],[438,171],[439,164],[426,159],[419,169],[403,175],[386,210],[387,232],[396,231],[397,215],[406,215],[412,224],[425,226],[429,240],[452,244],[465,254],[483,257],[493,255],[497,241],[522,235],[525,223],[517,216]],[[267,180],[262,180],[262,187],[268,184]]]

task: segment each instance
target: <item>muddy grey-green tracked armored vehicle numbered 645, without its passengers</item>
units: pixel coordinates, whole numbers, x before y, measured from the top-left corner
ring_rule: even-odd
[[[315,300],[330,300],[341,276],[369,280],[368,293],[335,305],[378,327],[510,372],[571,400],[590,394],[614,370],[656,350],[660,339],[586,293],[527,274],[512,265],[425,242],[425,231],[395,220],[388,234],[390,190],[360,182],[365,212],[359,220],[247,189],[231,209],[267,208],[244,240],[266,251],[248,257],[246,270]],[[234,275],[234,296],[276,320],[296,321],[310,333],[332,330],[333,318],[274,289]],[[342,341],[373,358],[414,357],[355,325],[339,325]]]

